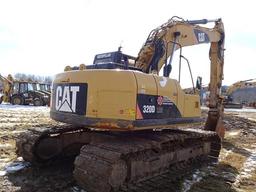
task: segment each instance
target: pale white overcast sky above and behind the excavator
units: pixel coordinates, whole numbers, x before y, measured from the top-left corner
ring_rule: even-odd
[[[66,65],[91,64],[97,53],[137,56],[149,32],[177,15],[222,18],[224,84],[256,78],[255,1],[239,0],[0,0],[0,73],[54,75]],[[209,81],[209,45],[186,48],[194,78]],[[177,59],[172,77],[177,77]],[[185,64],[185,63],[184,63]],[[190,86],[183,67],[182,85]]]

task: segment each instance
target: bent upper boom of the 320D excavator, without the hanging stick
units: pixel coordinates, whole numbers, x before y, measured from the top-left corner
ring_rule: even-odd
[[[135,66],[145,73],[158,73],[174,51],[181,47],[201,43],[218,42],[224,32],[221,20],[217,20],[214,28],[205,28],[197,24],[206,24],[208,20],[178,21],[171,19],[154,29],[141,48]],[[169,63],[170,63],[169,62]]]

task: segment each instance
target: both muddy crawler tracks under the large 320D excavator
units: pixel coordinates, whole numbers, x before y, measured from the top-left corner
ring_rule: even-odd
[[[141,191],[168,174],[171,182],[178,172],[181,175],[177,170],[191,162],[218,158],[221,148],[215,132],[194,129],[127,133],[66,125],[32,128],[19,138],[18,155],[34,164],[75,157],[81,149],[74,177],[80,186],[94,192]]]

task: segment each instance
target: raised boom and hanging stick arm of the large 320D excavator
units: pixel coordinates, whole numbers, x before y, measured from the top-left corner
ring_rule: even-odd
[[[154,29],[149,34],[146,43],[141,48],[135,67],[145,73],[159,73],[167,58],[171,65],[174,51],[185,46],[201,43],[211,43],[210,61],[210,102],[209,114],[205,125],[206,130],[217,131],[223,136],[222,118],[223,106],[220,96],[221,83],[223,79],[224,65],[224,26],[221,19],[214,20],[213,28],[201,27],[197,24],[207,24],[210,20],[175,20],[172,18],[167,23]],[[169,76],[165,73],[165,76]]]

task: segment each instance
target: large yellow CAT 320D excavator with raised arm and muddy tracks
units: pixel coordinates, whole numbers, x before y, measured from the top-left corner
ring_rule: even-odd
[[[201,26],[210,22],[213,28]],[[186,94],[169,75],[176,50],[181,61],[183,47],[202,43],[211,44],[211,75],[208,117],[200,128],[199,96]],[[17,152],[35,164],[77,156],[74,177],[95,192],[127,189],[179,163],[218,159],[223,65],[221,19],[173,17],[150,32],[137,57],[119,49],[56,75],[50,116],[67,125],[30,129],[19,137]]]

